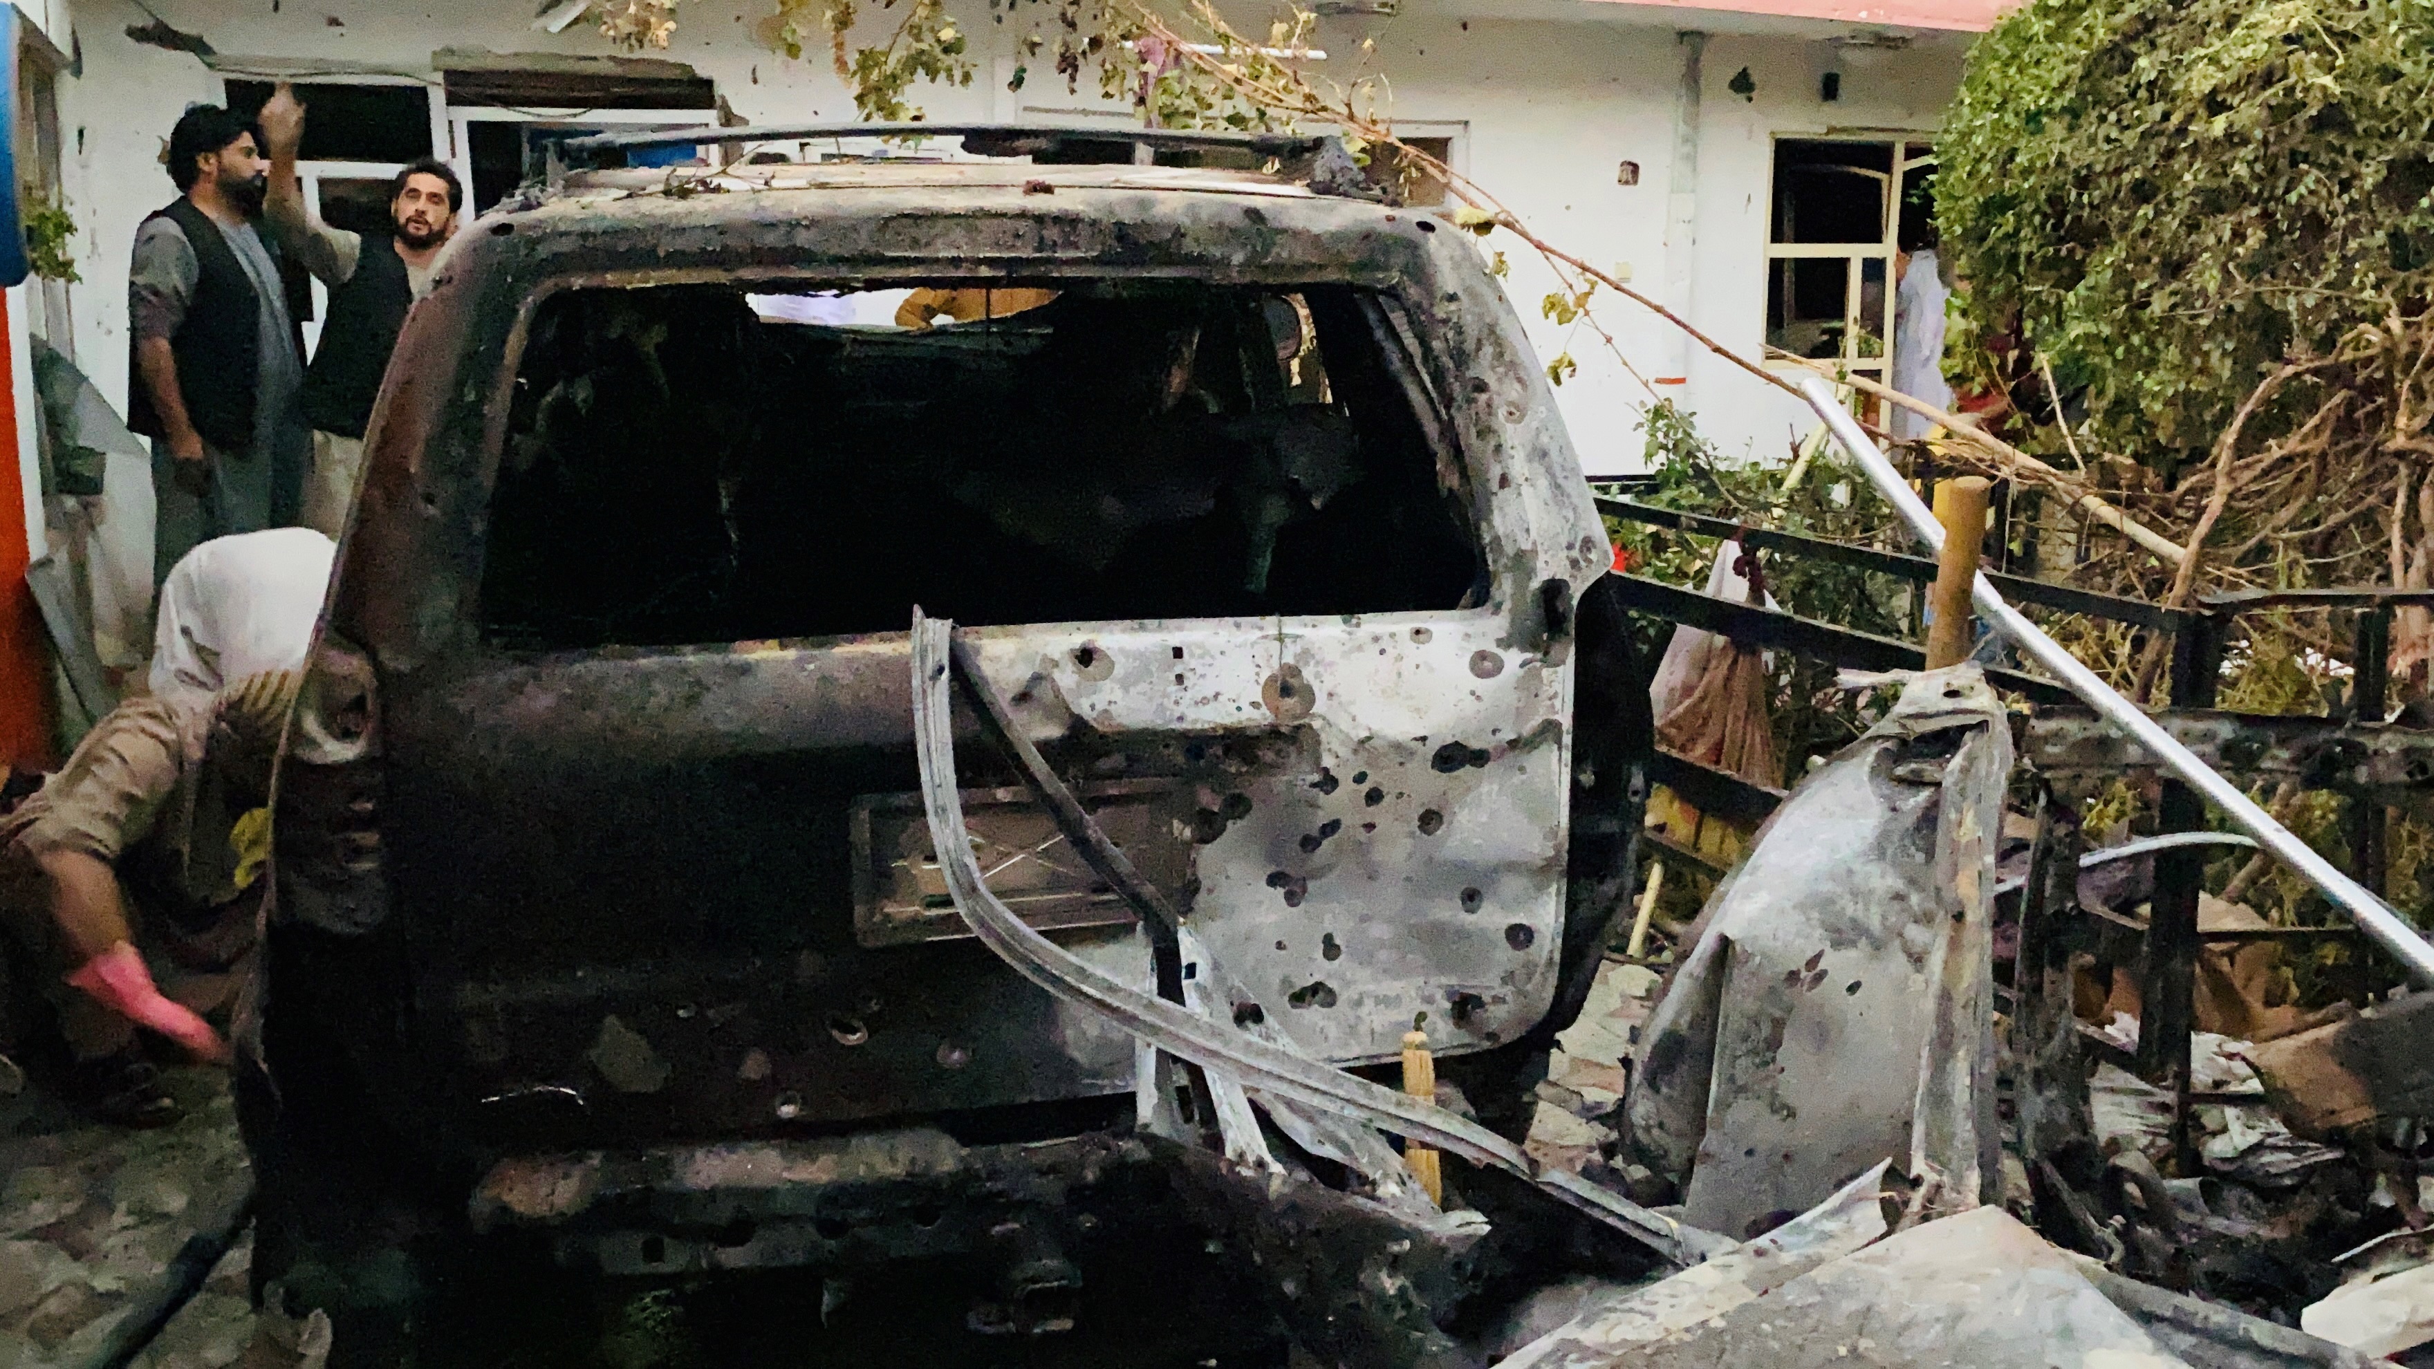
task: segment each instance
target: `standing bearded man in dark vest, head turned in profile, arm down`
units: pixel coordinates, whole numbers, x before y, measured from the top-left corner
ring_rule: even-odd
[[[277,251],[253,231],[260,134],[195,105],[168,136],[178,200],[136,229],[127,414],[153,438],[153,582],[200,541],[297,521],[312,431]]]

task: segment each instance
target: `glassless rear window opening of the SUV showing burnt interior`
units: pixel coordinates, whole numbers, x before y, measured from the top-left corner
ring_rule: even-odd
[[[545,297],[492,497],[492,641],[1485,599],[1460,460],[1383,297],[991,285]],[[918,304],[935,322],[898,319]]]

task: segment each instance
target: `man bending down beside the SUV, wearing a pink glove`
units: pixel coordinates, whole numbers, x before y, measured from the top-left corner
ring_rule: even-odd
[[[178,1118],[139,1030],[229,1060],[195,1006],[229,1001],[253,952],[270,770],[331,553],[309,529],[187,553],[163,592],[156,692],[0,816],[0,931],[58,1016],[68,1101],[102,1121]]]

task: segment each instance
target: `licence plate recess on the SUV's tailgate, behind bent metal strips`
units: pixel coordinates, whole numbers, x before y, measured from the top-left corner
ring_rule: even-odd
[[[1188,792],[1163,780],[1129,780],[1093,784],[1081,797],[1146,879],[1183,889],[1193,867]],[[966,789],[964,818],[988,887],[1025,923],[1039,931],[1132,923],[1122,894],[1090,872],[1030,789]],[[920,794],[854,799],[852,840],[854,940],[879,948],[971,935],[930,850]]]

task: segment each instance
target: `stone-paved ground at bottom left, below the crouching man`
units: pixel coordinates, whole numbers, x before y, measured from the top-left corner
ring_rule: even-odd
[[[246,1181],[226,1074],[173,1069],[173,1128],[90,1125],[39,1089],[0,1099],[0,1369],[83,1364],[195,1223]],[[219,1369],[253,1335],[239,1245],[136,1364]]]

